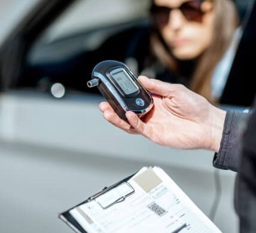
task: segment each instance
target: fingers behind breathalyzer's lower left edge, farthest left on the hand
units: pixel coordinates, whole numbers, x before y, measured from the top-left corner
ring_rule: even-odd
[[[118,117],[118,115],[114,112],[108,102],[100,103],[99,109],[103,113],[103,117],[111,124],[115,125],[118,128],[121,128],[121,130],[124,130],[127,133],[137,134],[136,130],[134,130],[128,122]]]

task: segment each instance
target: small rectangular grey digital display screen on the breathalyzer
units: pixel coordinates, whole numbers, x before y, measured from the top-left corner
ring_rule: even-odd
[[[133,82],[124,69],[115,69],[110,73],[121,90],[123,90],[124,94],[132,94],[139,90],[138,86]]]

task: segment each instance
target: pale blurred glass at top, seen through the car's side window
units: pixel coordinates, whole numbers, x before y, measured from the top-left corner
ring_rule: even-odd
[[[149,4],[147,0],[77,0],[47,28],[39,41],[56,41],[88,29],[140,19],[147,16]]]

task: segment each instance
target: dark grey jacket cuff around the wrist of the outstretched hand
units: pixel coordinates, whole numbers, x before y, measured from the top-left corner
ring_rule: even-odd
[[[248,114],[228,111],[225,117],[220,151],[214,155],[214,167],[237,171],[240,161],[240,137]]]

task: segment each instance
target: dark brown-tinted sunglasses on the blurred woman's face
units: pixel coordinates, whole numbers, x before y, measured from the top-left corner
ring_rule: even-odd
[[[205,0],[191,0],[183,2],[179,7],[159,7],[154,5],[151,7],[151,13],[154,16],[157,24],[167,24],[169,21],[170,11],[178,9],[188,21],[202,22],[203,14],[201,5]]]

